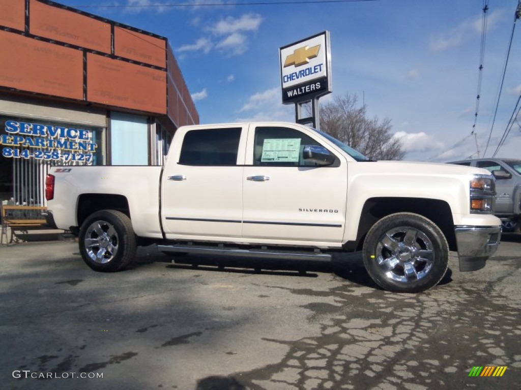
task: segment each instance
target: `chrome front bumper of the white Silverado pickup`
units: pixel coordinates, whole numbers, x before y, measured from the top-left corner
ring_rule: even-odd
[[[456,226],[454,231],[462,272],[485,267],[487,259],[498,250],[501,226]]]

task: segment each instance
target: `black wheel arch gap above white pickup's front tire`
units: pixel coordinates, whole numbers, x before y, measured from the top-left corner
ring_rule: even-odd
[[[348,243],[348,250],[362,250],[369,229],[381,218],[395,213],[414,213],[435,223],[443,232],[451,251],[456,250],[454,220],[450,205],[439,199],[427,198],[369,198],[359,218],[356,241]]]

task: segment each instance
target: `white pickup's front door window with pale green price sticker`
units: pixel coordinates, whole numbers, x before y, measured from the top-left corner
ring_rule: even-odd
[[[322,146],[313,138],[287,127],[257,127],[253,165],[317,166],[304,160],[304,146]]]

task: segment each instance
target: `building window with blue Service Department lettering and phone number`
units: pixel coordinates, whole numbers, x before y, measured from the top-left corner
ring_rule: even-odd
[[[103,165],[104,128],[0,117],[0,200],[45,205],[54,165]]]

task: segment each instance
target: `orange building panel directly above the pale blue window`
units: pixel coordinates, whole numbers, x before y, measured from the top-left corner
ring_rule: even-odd
[[[87,54],[87,100],[166,114],[166,72]]]

